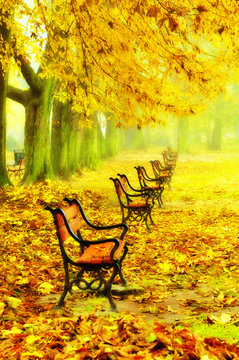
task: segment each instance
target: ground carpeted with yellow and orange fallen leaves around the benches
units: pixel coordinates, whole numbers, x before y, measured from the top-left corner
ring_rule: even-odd
[[[160,153],[122,153],[71,183],[0,190],[0,359],[239,358],[236,153],[179,158],[152,232],[143,223],[129,227],[124,275],[143,291],[117,293],[118,313],[85,292],[53,309],[64,272],[45,205],[76,197],[93,223],[119,222],[109,178],[124,172],[137,186],[134,166],[151,173],[149,160]]]

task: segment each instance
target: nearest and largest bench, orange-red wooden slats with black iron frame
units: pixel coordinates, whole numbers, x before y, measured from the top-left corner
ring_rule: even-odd
[[[65,285],[63,293],[58,301],[58,307],[63,305],[67,293],[72,293],[72,286],[76,285],[81,290],[91,289],[99,291],[102,286],[109,299],[112,310],[117,310],[112,298],[111,287],[116,275],[120,276],[122,285],[127,285],[122,274],[122,262],[127,254],[128,247],[124,236],[127,225],[116,224],[109,226],[95,226],[85,216],[80,202],[76,199],[64,199],[69,206],[66,209],[46,206],[54,218],[57,237],[63,258],[65,269]],[[82,219],[84,221],[82,221]],[[82,229],[88,226],[94,230],[111,230],[120,228],[121,235],[100,240],[83,240]],[[75,246],[76,245],[76,246]],[[78,268],[70,280],[69,265]],[[106,270],[112,269],[109,279],[105,279]],[[88,277],[92,276],[90,280]]]

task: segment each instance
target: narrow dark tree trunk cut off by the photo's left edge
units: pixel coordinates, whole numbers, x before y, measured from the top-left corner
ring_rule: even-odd
[[[1,14],[1,11],[0,11]],[[2,14],[1,14],[2,15]],[[10,31],[3,22],[0,26],[0,35],[6,42],[10,41]],[[5,56],[5,46],[0,49],[1,57]],[[6,99],[7,99],[7,74],[0,62],[0,187],[10,184],[6,169]]]

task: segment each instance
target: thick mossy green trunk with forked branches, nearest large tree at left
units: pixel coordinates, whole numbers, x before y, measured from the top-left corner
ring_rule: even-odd
[[[41,79],[26,60],[19,56],[22,74],[30,86],[27,91],[9,87],[8,97],[25,106],[25,175],[23,183],[31,184],[53,177],[50,157],[50,116],[53,79]]]

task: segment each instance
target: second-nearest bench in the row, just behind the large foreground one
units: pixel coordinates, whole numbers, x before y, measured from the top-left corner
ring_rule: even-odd
[[[126,175],[118,174],[118,176],[120,176],[120,179],[110,178],[110,180],[112,180],[115,185],[122,213],[122,223],[126,223],[127,220],[137,222],[144,220],[148,231],[151,232],[148,225],[148,218],[151,224],[154,225],[151,215],[154,206],[152,191],[136,190],[130,185]]]

